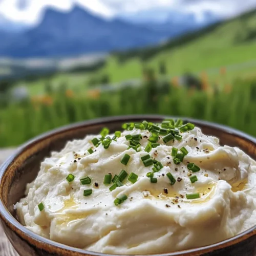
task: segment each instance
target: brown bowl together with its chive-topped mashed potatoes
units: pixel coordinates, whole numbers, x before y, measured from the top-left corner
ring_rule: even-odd
[[[164,116],[82,122],[1,168],[0,216],[20,255],[254,255],[255,139]]]

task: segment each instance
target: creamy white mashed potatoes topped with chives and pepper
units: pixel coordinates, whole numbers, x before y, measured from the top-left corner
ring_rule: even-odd
[[[41,163],[15,205],[19,221],[59,243],[123,254],[204,246],[253,226],[256,163],[192,124],[172,125],[68,142]]]

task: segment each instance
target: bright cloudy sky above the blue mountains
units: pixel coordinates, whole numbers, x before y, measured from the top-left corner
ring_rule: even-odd
[[[198,17],[211,10],[228,18],[256,8],[256,0],[0,0],[0,16],[33,25],[46,7],[68,11],[75,3],[106,18],[154,8],[194,12]]]

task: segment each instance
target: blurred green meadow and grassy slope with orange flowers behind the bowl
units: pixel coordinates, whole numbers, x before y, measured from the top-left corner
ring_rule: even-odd
[[[0,146],[129,114],[193,117],[256,136],[255,31],[253,11],[155,47],[113,52],[91,68],[0,80]]]

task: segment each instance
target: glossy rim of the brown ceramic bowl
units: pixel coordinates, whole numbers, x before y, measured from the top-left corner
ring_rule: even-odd
[[[236,135],[238,137],[241,137],[243,139],[249,140],[250,142],[256,144],[256,138],[241,132],[237,129],[233,129],[229,126],[222,125],[222,124],[216,124],[209,121],[203,121],[193,118],[187,118],[187,117],[180,117],[180,116],[168,116],[168,115],[123,115],[123,116],[111,116],[111,117],[103,117],[103,118],[97,118],[87,121],[81,121],[76,122],[73,124],[64,125],[61,127],[58,127],[57,129],[50,130],[48,132],[42,133],[41,135],[38,135],[29,141],[25,142],[24,144],[20,145],[16,151],[0,166],[0,183],[2,183],[2,178],[6,172],[6,169],[12,165],[13,161],[27,148],[33,146],[33,144],[36,144],[46,138],[49,138],[56,134],[65,133],[69,130],[73,129],[79,129],[81,126],[90,126],[90,125],[97,125],[104,123],[105,126],[108,125],[108,123],[115,122],[115,121],[121,121],[121,122],[129,122],[131,120],[139,120],[139,119],[164,119],[164,118],[181,118],[185,121],[191,122],[191,123],[197,123],[197,125],[204,125],[209,126],[217,130],[221,130],[224,133],[228,133],[231,135]],[[0,198],[2,197],[2,186],[0,186]],[[3,222],[13,231],[15,232],[19,237],[22,237],[25,241],[28,241],[28,239],[32,240],[32,242],[37,242],[37,245],[40,245],[38,248],[42,248],[44,245],[50,245],[51,248],[61,249],[65,250],[66,252],[76,252],[84,255],[95,255],[95,256],[110,256],[110,255],[127,255],[127,254],[109,254],[109,253],[101,253],[101,252],[95,252],[95,251],[89,251],[85,249],[75,248],[72,246],[68,246],[65,244],[61,244],[55,241],[52,241],[50,239],[44,238],[39,236],[39,234],[34,233],[33,231],[27,229],[25,226],[23,226],[21,223],[19,223],[9,212],[7,207],[4,205],[2,200],[0,200],[0,218]],[[157,253],[157,254],[139,254],[139,255],[154,255],[154,256],[181,256],[181,255],[188,255],[189,253],[205,253],[210,252],[218,249],[226,248],[230,245],[237,244],[239,242],[242,242],[252,236],[256,235],[256,224],[252,226],[251,228],[245,230],[242,233],[237,234],[237,236],[231,237],[229,239],[220,241],[215,244],[210,244],[202,247],[197,247],[193,249],[186,249],[186,250],[180,250],[175,252],[169,252],[169,253]],[[34,244],[34,243],[33,243]],[[44,247],[45,249],[45,247]],[[132,254],[134,256],[134,254]],[[194,255],[194,254],[193,254]],[[198,255],[198,254],[195,254]]]

